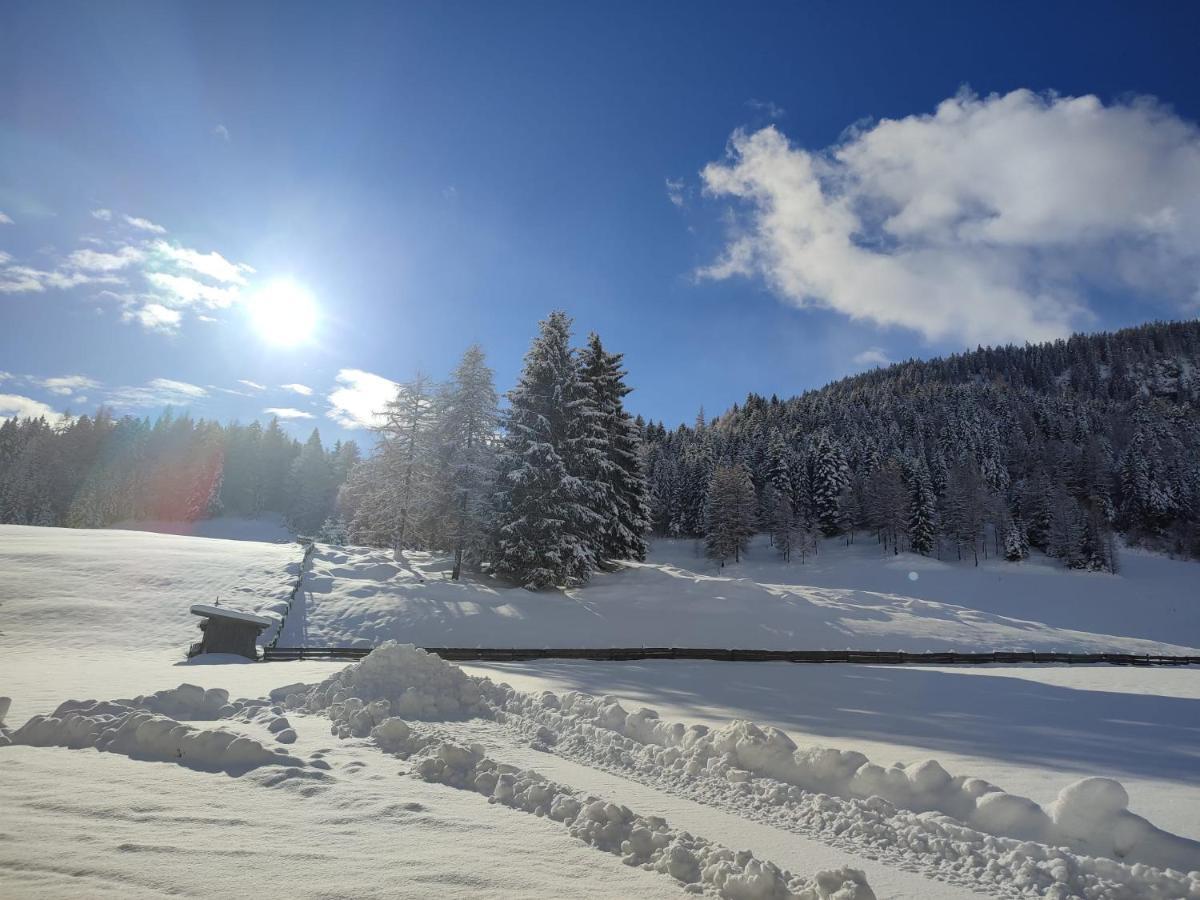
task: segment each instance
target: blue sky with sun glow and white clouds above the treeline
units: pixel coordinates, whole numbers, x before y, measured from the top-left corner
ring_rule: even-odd
[[[563,307],[674,424],[1195,316],[1200,7],[961,6],[5,4],[0,415],[346,436]]]

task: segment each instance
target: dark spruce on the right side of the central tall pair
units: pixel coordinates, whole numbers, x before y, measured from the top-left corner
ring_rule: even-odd
[[[630,392],[624,383],[622,355],[607,353],[595,334],[581,354],[583,380],[596,410],[601,457],[594,480],[602,491],[596,512],[604,520],[599,556],[602,559],[646,559],[649,504],[642,464],[642,432],[625,412]]]

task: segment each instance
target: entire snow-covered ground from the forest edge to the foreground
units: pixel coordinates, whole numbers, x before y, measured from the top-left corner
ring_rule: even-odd
[[[787,611],[774,625],[845,636],[798,646],[872,646],[852,643],[864,635],[913,649],[908,641],[966,648],[995,635],[1069,647],[1200,643],[1187,605],[1200,568],[1190,564],[1127,553],[1114,578],[1037,562],[976,571],[841,550],[803,566],[752,554],[726,570],[733,577],[714,577],[689,544],[664,542],[644,566],[542,595],[449,584],[428,558],[397,566],[388,554],[320,548],[284,630],[301,640],[281,643],[468,643],[463,634],[488,625],[520,638],[523,624],[526,640],[470,643],[682,644],[658,640],[666,631],[637,640],[635,630],[667,629],[690,602],[701,620],[691,634],[725,628],[751,637],[755,623],[737,619],[769,613],[768,598]],[[198,634],[192,602],[220,595],[270,613],[295,583],[300,557],[296,545],[0,527],[7,726],[71,697],[131,698],[68,704],[58,724],[40,721],[18,737],[107,752],[0,749],[0,895],[209,895],[216,883],[239,895],[269,883],[298,896],[656,896],[688,881],[726,895],[787,887],[868,896],[854,869],[881,898],[1026,888],[1200,896],[1200,883],[1164,869],[1200,869],[1195,668],[548,661],[460,670],[436,660],[425,668],[395,649],[390,665],[352,678],[331,662],[182,660]],[[622,584],[632,592],[624,600]],[[655,613],[659,595],[647,589],[664,584],[679,593],[666,592]],[[1024,589],[1009,604],[1013,584]],[[1127,628],[1122,590],[1126,604],[1138,599]],[[1034,614],[1055,598],[1074,612]],[[740,617],[719,611],[742,599]],[[390,617],[385,632],[366,628],[371,608]],[[396,634],[406,623],[413,634]],[[593,640],[588,623],[624,640]],[[940,641],[943,629],[955,638]],[[202,690],[253,698],[325,679],[334,680],[319,691],[277,692],[274,708],[224,706],[224,695]],[[180,683],[199,688],[151,696]],[[464,688],[478,696],[467,707],[456,694]],[[448,690],[460,706],[446,704]],[[371,737],[365,725],[386,718],[371,707],[380,697],[406,725]],[[665,725],[672,720],[679,725]],[[330,725],[347,737],[330,737]],[[245,739],[230,744],[234,736]],[[898,761],[902,768],[892,767]],[[1056,803],[1090,775],[1120,780],[1129,811],[1108,781]],[[838,874],[815,881],[818,870]]]

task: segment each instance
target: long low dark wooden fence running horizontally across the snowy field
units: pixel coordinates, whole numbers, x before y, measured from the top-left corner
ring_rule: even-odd
[[[264,662],[307,659],[362,659],[370,647],[268,647]],[[905,653],[900,650],[722,650],[682,647],[607,647],[607,648],[494,648],[426,647],[452,662],[521,662],[536,659],[582,659],[631,661],[648,659],[718,660],[722,662],[865,662],[882,666],[982,666],[996,662],[1061,662],[1112,666],[1200,666],[1200,656],[1158,656],[1132,653],[1042,653],[1032,650],[995,653]]]

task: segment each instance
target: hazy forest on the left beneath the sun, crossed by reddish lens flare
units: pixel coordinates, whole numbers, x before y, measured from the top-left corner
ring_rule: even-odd
[[[0,422],[0,522],[100,528],[128,520],[282,514],[316,533],[359,461],[354,442],[304,444],[276,419],[221,425],[169,410],[157,420],[107,408],[50,425]]]

